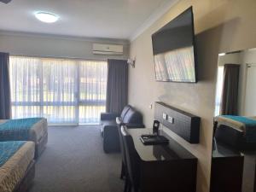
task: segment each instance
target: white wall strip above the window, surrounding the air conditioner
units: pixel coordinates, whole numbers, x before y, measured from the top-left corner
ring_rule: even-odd
[[[93,43],[123,44],[124,55],[93,55]],[[11,55],[69,57],[88,60],[127,59],[129,56],[129,42],[119,39],[71,38],[20,32],[0,32],[0,51],[9,52]]]

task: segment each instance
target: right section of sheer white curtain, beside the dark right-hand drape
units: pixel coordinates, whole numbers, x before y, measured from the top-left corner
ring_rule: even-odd
[[[99,121],[99,111],[105,111],[108,67],[105,61],[79,62],[79,120]]]

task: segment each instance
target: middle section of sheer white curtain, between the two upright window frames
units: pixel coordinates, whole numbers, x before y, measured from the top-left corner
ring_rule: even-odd
[[[43,116],[54,123],[78,122],[76,61],[43,59]]]

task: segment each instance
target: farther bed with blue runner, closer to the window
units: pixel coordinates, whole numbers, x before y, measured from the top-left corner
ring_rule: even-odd
[[[30,127],[26,128],[27,125]],[[4,141],[32,141],[36,144],[35,157],[38,158],[48,142],[47,119],[0,119],[0,142]]]

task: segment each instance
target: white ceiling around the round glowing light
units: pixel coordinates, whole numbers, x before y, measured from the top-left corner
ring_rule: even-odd
[[[0,3],[0,30],[128,39],[166,2],[175,0],[12,0]],[[42,23],[36,11],[55,13],[60,20]]]

